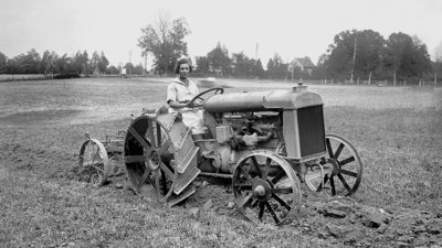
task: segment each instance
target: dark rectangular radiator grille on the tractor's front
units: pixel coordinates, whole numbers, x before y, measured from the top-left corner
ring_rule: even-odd
[[[301,157],[326,151],[323,106],[297,109]]]

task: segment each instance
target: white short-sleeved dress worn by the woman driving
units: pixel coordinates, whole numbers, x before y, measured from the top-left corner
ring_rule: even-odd
[[[175,78],[167,87],[167,103],[191,100],[199,94],[197,85],[189,79],[186,86],[179,78]],[[202,121],[202,110],[196,108],[172,108],[169,107],[169,112],[181,112],[182,122],[190,127],[192,134],[204,133],[204,123]]]

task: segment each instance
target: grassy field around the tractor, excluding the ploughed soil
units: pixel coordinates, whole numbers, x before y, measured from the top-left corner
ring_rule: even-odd
[[[292,87],[225,80],[229,91]],[[157,108],[167,79],[94,78],[0,84],[0,244],[3,247],[327,247],[340,240],[243,220],[210,184],[189,203],[165,208],[131,191],[76,182],[84,132],[125,130],[130,115]],[[326,131],[360,152],[365,171],[352,196],[398,213],[442,214],[442,89],[312,85],[325,101]],[[126,185],[124,179],[118,183]],[[208,193],[210,192],[210,194]],[[212,193],[215,194],[212,194]],[[222,197],[215,197],[214,195]],[[314,194],[314,193],[308,193]],[[208,198],[213,211],[192,216]],[[299,217],[299,218],[308,218]],[[301,220],[299,220],[301,222]]]

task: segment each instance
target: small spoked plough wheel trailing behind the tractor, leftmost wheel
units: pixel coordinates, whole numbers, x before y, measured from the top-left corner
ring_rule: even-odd
[[[109,173],[109,159],[103,143],[94,138],[87,139],[81,150],[76,176],[78,181],[102,186]]]

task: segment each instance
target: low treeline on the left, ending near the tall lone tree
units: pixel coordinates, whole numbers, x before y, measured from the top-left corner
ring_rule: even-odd
[[[124,66],[131,74],[145,72],[141,64],[134,66],[127,63]],[[0,74],[51,74],[61,77],[78,77],[81,75],[119,74],[120,66],[109,66],[104,52],[95,51],[90,57],[87,51],[76,52],[72,56],[59,55],[55,52],[44,51],[43,55],[31,48],[27,54],[8,58],[0,52]]]

